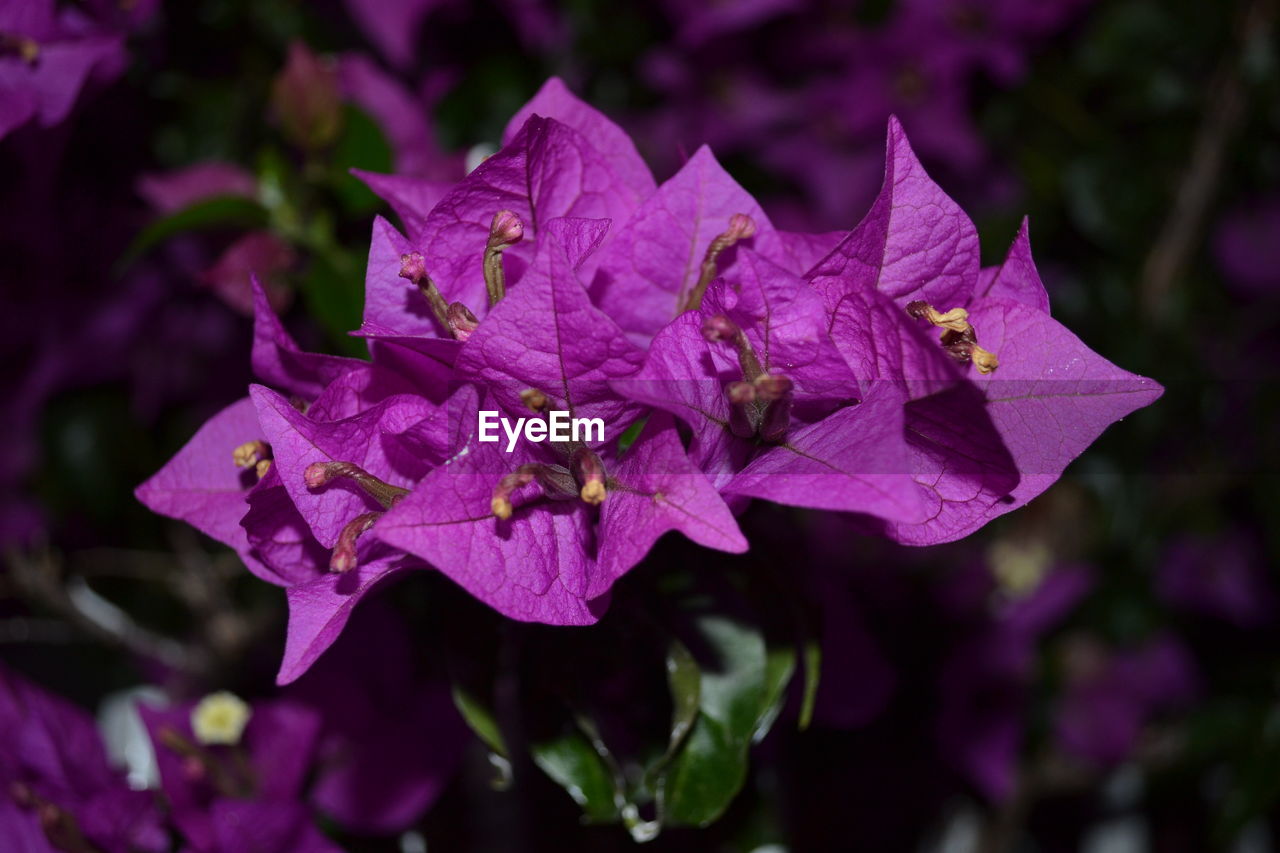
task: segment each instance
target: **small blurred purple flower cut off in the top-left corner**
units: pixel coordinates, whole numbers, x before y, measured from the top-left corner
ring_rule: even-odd
[[[123,64],[122,38],[54,0],[0,4],[0,138],[29,120],[59,124],[97,73]]]

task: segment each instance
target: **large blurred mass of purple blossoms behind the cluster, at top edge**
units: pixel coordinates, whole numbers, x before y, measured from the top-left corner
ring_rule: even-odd
[[[675,42],[641,68],[662,106],[630,123],[659,173],[708,143],[792,182],[803,202],[769,199],[791,228],[856,220],[891,114],[927,164],[970,202],[989,202],[1009,179],[984,149],[972,92],[983,79],[1019,83],[1028,55],[1088,3],[915,0],[884,20],[806,0],[668,3]]]

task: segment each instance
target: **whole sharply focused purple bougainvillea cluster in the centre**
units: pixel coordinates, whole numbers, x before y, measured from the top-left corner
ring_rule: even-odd
[[[264,384],[138,489],[287,588],[282,681],[407,570],[581,625],[667,533],[748,549],[753,498],[959,539],[1161,393],[1052,319],[1025,225],[980,268],[896,120],[842,234],[776,228],[708,149],[655,184],[556,79],[462,181],[365,179],[404,227],[374,224],[370,360],[301,351],[259,288]],[[605,429],[506,452],[481,411]]]

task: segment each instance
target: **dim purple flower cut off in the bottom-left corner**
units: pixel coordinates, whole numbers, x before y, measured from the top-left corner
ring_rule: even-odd
[[[108,763],[93,717],[0,667],[0,838],[8,849],[160,853],[148,792]]]

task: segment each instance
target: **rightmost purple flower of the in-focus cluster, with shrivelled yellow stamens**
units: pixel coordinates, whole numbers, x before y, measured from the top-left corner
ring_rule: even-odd
[[[1005,264],[979,272],[973,224],[897,122],[879,199],[810,278],[859,379],[910,401],[911,469],[931,511],[884,528],[900,542],[956,539],[1021,506],[1162,393],[1050,318],[1025,225]],[[929,325],[941,341],[938,329],[922,334]]]

